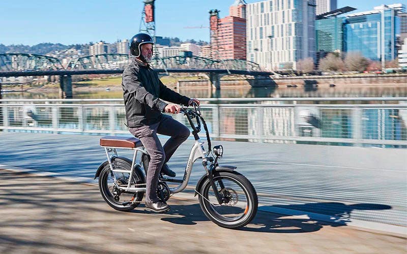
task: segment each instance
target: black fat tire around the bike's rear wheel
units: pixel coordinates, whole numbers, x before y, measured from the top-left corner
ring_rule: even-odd
[[[126,159],[127,158],[122,158],[122,157],[114,158],[112,160],[112,162],[111,162],[113,168],[120,166],[122,169],[129,170],[129,172],[130,172],[131,161],[128,160],[128,159],[126,160]],[[104,189],[104,186],[105,186],[104,181],[107,179],[107,176],[108,176],[109,172],[110,172],[110,166],[109,166],[109,164],[107,164],[103,168],[103,170],[101,171],[100,176],[99,176],[99,190],[100,190],[100,194],[102,195],[102,198],[106,201],[106,203],[110,207],[112,207],[113,209],[118,210],[118,211],[130,211],[130,210],[133,210],[134,208],[136,208],[140,204],[140,202],[141,202],[141,200],[142,200],[142,198],[144,196],[143,192],[135,193],[134,196],[133,196],[135,202],[133,202],[131,205],[128,205],[128,206],[123,206],[121,204],[112,203],[107,198],[107,194],[105,193],[105,189]],[[139,183],[145,183],[144,182],[144,177],[140,176],[137,170],[134,170],[133,173],[136,174],[138,179],[140,179],[136,183],[138,183],[138,184]]]

